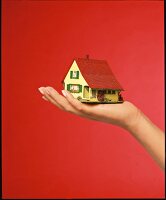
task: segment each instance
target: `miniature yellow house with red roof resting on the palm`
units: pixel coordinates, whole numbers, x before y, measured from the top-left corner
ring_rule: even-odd
[[[105,60],[75,58],[62,83],[81,102],[123,102],[123,88]]]

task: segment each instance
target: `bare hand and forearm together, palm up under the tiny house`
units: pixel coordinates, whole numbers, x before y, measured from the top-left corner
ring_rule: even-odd
[[[89,105],[75,99],[67,90],[62,90],[62,96],[49,86],[38,89],[44,100],[61,110],[124,128],[143,145],[158,165],[165,169],[165,135],[134,104],[124,101],[122,104]]]

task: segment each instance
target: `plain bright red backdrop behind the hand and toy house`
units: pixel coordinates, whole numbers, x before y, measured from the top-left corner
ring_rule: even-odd
[[[38,87],[74,57],[105,59],[123,96],[164,129],[162,1],[3,1],[3,198],[164,197],[125,130],[63,112]]]

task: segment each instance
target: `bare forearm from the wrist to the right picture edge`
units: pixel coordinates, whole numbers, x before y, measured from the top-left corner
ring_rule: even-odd
[[[126,129],[145,147],[162,169],[165,169],[165,135],[142,112],[135,124]]]

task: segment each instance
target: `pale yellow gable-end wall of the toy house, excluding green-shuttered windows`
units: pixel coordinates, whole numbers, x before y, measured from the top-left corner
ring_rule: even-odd
[[[79,79],[71,79],[70,78],[70,71],[79,71]],[[64,83],[65,83],[65,90],[67,90],[67,84],[80,84],[82,85],[82,92],[79,93],[72,93],[72,95],[74,96],[74,98],[77,97],[81,97],[83,98],[83,91],[84,91],[84,86],[89,86],[88,83],[85,81],[84,77],[81,74],[81,71],[76,63],[76,61],[74,60],[73,64],[71,65],[65,79],[64,79]],[[87,98],[86,98],[87,99]]]

